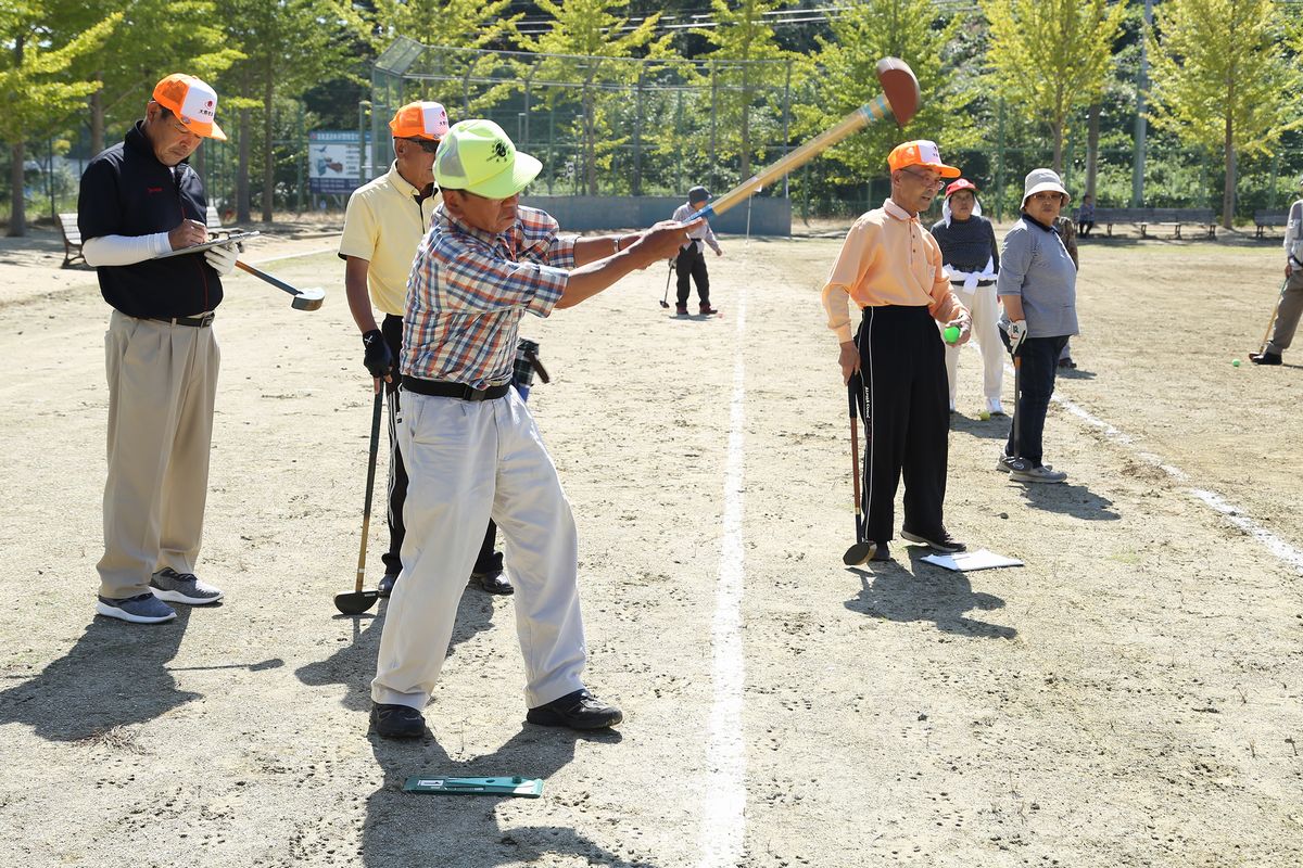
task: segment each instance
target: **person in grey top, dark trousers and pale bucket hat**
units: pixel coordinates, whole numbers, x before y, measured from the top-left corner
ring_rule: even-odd
[[[1045,413],[1054,394],[1054,372],[1067,338],[1076,334],[1076,264],[1055,228],[1067,190],[1050,169],[1032,169],[1023,183],[1023,216],[1005,236],[995,294],[1005,306],[999,327],[1015,363],[1022,394],[1015,396],[1018,439],[995,465],[1022,483],[1061,483],[1062,470],[1041,463]]]

